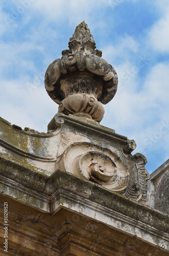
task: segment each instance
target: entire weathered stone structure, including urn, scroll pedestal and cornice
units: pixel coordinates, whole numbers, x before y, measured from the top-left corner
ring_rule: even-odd
[[[4,202],[8,255],[169,255],[168,162],[151,175],[155,210],[147,159],[99,124],[118,80],[95,48],[83,22],[48,67],[46,90],[64,114],[46,134],[0,119],[1,255]]]

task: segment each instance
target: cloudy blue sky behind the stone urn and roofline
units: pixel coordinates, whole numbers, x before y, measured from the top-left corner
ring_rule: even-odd
[[[168,0],[1,0],[0,116],[47,131],[58,105],[44,74],[82,20],[119,77],[101,124],[134,139],[152,173],[169,157]]]

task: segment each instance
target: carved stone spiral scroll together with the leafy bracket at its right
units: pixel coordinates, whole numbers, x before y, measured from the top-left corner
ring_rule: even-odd
[[[131,142],[130,142],[131,143]],[[146,158],[120,159],[115,153],[87,142],[70,145],[61,156],[59,168],[142,203],[149,202]],[[131,166],[132,168],[127,168]],[[136,177],[133,179],[132,177]]]

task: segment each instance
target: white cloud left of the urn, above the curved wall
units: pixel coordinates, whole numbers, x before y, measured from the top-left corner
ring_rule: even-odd
[[[27,87],[29,77],[20,80],[1,81],[4,98],[1,100],[0,116],[12,124],[28,126],[40,132],[47,131],[47,123],[58,112],[58,105],[47,95],[44,85]],[[8,99],[8,100],[7,100]]]

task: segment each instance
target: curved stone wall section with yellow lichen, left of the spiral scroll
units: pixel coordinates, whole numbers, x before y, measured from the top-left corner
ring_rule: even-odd
[[[39,133],[30,129],[18,130],[0,118],[0,156],[21,167],[50,175],[54,171],[60,143],[59,132]],[[12,168],[12,167],[11,167]],[[15,175],[14,175],[15,176]]]

